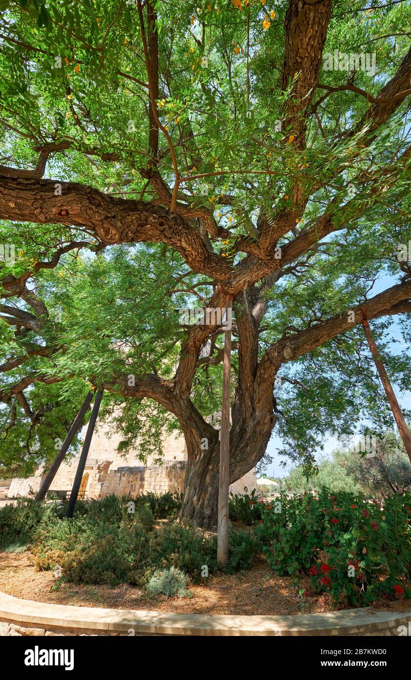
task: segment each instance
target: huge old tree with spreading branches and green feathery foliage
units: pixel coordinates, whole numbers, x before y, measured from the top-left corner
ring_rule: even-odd
[[[308,465],[329,428],[391,424],[359,324],[362,306],[408,388],[389,352],[411,311],[406,3],[0,7],[3,452],[52,458],[102,386],[125,445],[179,425],[183,516],[215,524],[224,328],[175,309],[227,293],[230,482],[276,424]]]

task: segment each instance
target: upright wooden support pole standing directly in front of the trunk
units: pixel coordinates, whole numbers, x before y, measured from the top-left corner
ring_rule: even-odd
[[[231,387],[232,295],[227,295],[224,333],[223,398],[221,404],[220,465],[218,486],[217,562],[228,562],[228,489],[230,472],[230,387]]]

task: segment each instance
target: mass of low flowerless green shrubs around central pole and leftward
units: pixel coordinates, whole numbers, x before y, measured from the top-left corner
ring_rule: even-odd
[[[192,583],[204,583],[205,574],[217,568],[215,537],[177,523],[153,530],[154,513],[177,512],[177,500],[174,494],[79,500],[71,520],[65,517],[67,502],[20,500],[0,511],[1,540],[13,551],[31,544],[37,568],[58,565],[62,579],[73,583],[142,585],[147,571],[152,575],[172,567]],[[251,566],[259,545],[251,535],[231,530],[229,543],[224,571]]]

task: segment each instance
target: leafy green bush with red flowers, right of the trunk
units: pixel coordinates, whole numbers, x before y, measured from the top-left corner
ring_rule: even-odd
[[[330,593],[336,606],[411,598],[410,493],[381,506],[323,488],[317,496],[282,494],[271,506],[262,506],[255,533],[277,574],[308,575],[309,592]]]

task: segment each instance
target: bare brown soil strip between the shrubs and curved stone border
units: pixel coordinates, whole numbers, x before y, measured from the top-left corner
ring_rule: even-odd
[[[234,575],[216,574],[207,585],[192,585],[190,598],[148,598],[140,588],[122,583],[86,585],[58,583],[51,571],[36,571],[29,551],[0,552],[0,591],[24,600],[50,602],[79,607],[109,607],[113,609],[146,609],[175,613],[197,614],[308,614],[332,611],[331,598],[303,597],[299,589],[308,579],[274,576],[267,563],[256,559],[251,569]],[[374,609],[409,611],[410,602],[382,603]]]

